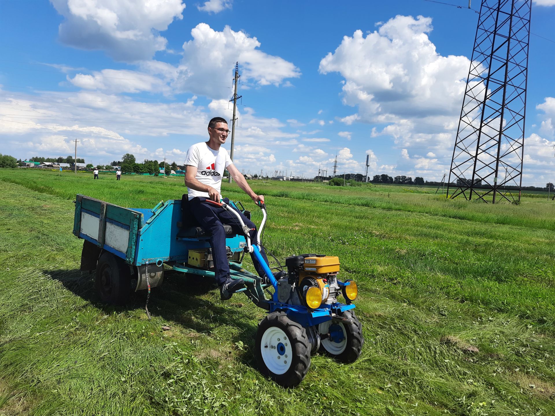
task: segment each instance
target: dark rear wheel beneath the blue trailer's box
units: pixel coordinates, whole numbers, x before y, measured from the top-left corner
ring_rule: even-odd
[[[131,292],[129,267],[119,257],[104,251],[98,259],[95,286],[103,303],[124,305]]]

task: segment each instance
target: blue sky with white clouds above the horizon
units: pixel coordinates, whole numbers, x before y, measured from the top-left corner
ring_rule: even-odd
[[[0,153],[183,162],[238,105],[245,173],[440,180],[478,14],[424,0],[0,0]],[[534,0],[524,185],[555,180],[555,0]],[[473,1],[478,9],[480,2]],[[543,38],[551,39],[543,39]],[[229,149],[230,139],[226,147]]]

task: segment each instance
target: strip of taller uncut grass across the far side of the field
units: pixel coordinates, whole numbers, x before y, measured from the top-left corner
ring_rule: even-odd
[[[16,174],[17,173],[17,174]],[[155,201],[175,199],[184,193],[183,177],[124,175],[116,181],[113,175],[100,175],[94,181],[92,175],[64,172],[58,176],[52,171],[16,170],[4,171],[2,180],[17,183],[29,189],[73,199],[77,192],[107,199],[123,205],[131,201],[137,208],[152,207]],[[90,179],[90,180],[89,180]],[[164,186],[159,185],[163,182]],[[363,185],[340,187],[306,182],[253,181],[253,189],[259,194],[296,200],[331,202],[354,207],[382,210],[420,212],[453,219],[534,227],[555,231],[555,203],[547,199],[523,197],[521,205],[507,209],[501,201],[495,206],[481,201],[468,202],[463,198],[446,200],[445,195],[435,194],[430,187],[398,185]],[[236,191],[235,185],[223,184],[222,190]]]

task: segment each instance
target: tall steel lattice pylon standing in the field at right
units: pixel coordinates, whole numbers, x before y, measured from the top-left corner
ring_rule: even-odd
[[[493,204],[496,196],[512,202],[505,187],[514,185],[520,200],[531,3],[482,0],[447,185],[449,195],[456,182],[451,198],[487,202],[491,194]]]

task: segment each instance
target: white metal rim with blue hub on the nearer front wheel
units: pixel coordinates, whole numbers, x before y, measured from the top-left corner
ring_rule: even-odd
[[[293,349],[291,339],[278,327],[264,331],[260,341],[260,351],[266,367],[274,374],[284,374],[291,367]]]

